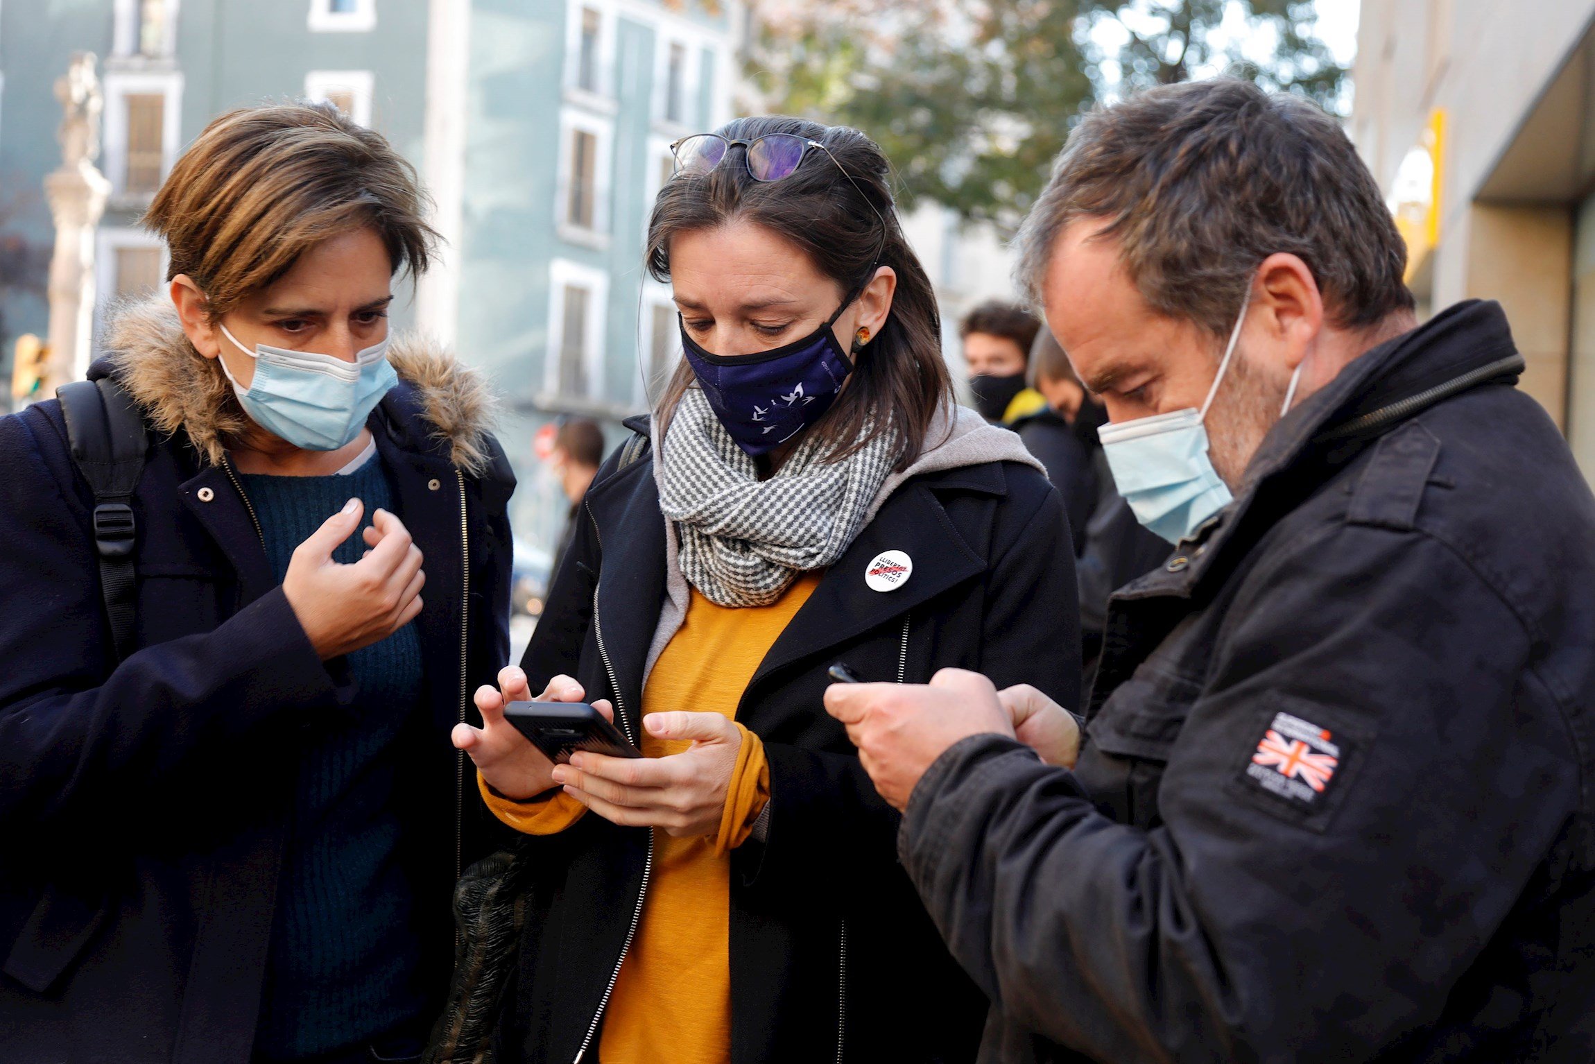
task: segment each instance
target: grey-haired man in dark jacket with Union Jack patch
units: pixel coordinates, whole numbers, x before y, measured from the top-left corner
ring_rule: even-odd
[[[1019,246],[1174,552],[1083,719],[826,692],[983,1059],[1595,1059],[1595,498],[1501,308],[1420,325],[1340,126],[1233,80],[1088,115]]]

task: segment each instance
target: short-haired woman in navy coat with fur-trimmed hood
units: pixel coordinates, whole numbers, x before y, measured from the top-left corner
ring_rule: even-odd
[[[507,649],[515,483],[485,386],[389,335],[424,211],[330,105],[223,115],[93,407],[0,420],[0,1059],[421,1051],[502,831],[448,734]],[[67,443],[113,412],[145,426],[115,584]]]

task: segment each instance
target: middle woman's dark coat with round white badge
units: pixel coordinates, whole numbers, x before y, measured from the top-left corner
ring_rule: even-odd
[[[628,423],[646,432],[644,421]],[[533,689],[576,676],[638,734],[643,670],[665,595],[665,526],[651,456],[598,472],[584,522],[526,649]],[[984,999],[936,938],[896,861],[898,815],[821,707],[826,668],[925,683],[944,665],[1021,676],[1073,697],[1073,573],[1040,472],[986,463],[909,479],[858,533],[770,648],[737,708],[770,767],[767,842],[731,871],[731,1059],[968,1061]],[[869,590],[864,568],[903,550],[912,576]],[[587,815],[526,839],[522,967],[506,1000],[506,1061],[576,1058],[641,912],[652,834]],[[837,1043],[841,1038],[841,1045]],[[589,1056],[589,1059],[592,1059]]]

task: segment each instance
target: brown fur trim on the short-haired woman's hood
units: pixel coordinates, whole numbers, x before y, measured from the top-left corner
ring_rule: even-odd
[[[228,440],[247,428],[249,415],[217,361],[188,343],[177,308],[160,295],[126,303],[116,309],[105,340],[112,375],[150,424],[167,435],[187,434],[206,461],[222,464]],[[456,466],[483,474],[493,463],[488,432],[498,402],[482,375],[415,333],[394,337],[388,361],[413,389],[424,434],[447,443]]]

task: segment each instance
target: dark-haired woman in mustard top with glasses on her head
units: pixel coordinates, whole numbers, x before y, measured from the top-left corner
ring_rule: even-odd
[[[826,716],[828,668],[1078,697],[1057,495],[954,405],[888,167],[853,129],[675,145],[648,265],[684,361],[587,493],[522,668],[456,729],[526,837],[501,1059],[962,1061],[984,1002]],[[643,759],[550,764],[506,700],[597,699]],[[466,1059],[456,1054],[455,1059]]]

